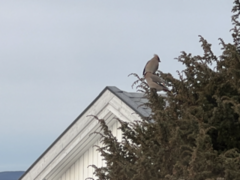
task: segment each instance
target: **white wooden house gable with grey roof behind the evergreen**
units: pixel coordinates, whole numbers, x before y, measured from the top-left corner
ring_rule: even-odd
[[[124,121],[140,120],[150,110],[140,106],[147,100],[141,93],[129,93],[116,87],[106,87],[96,99],[73,121],[52,145],[29,167],[19,180],[84,180],[93,177],[93,168],[103,161],[94,145],[100,145],[99,124],[92,116],[106,120],[113,134],[121,140],[116,118]]]

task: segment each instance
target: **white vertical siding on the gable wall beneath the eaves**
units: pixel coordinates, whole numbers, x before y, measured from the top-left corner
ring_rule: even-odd
[[[117,129],[118,127],[120,127],[120,123],[116,121],[110,129],[113,135],[121,141],[122,135],[121,131]],[[100,139],[95,145],[101,146]],[[88,177],[94,178],[94,169],[88,166],[92,164],[98,167],[104,166],[102,156],[96,149],[97,147],[91,146],[79,159],[76,159],[75,163],[58,180],[85,180]]]

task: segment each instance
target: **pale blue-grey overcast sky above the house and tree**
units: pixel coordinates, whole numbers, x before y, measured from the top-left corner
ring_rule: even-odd
[[[174,76],[198,35],[219,55],[232,1],[0,1],[0,172],[26,170],[106,86],[136,91],[154,53]]]

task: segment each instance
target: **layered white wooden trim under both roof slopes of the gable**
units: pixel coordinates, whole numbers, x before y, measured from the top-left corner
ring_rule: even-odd
[[[100,119],[105,119],[109,126],[116,122],[114,117],[124,121],[140,119],[138,114],[107,89],[25,174],[22,180],[58,180],[80,156],[91,148],[98,141],[99,136],[89,137],[89,135],[99,130],[99,125],[94,117],[87,115],[96,115]]]

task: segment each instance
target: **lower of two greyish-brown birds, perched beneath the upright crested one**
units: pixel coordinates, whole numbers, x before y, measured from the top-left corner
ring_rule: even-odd
[[[159,76],[152,74],[150,72],[145,73],[145,79],[150,88],[156,89],[157,91],[167,91],[171,92],[166,86],[165,81]]]

